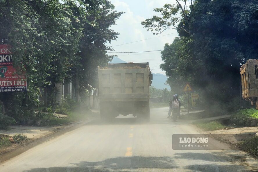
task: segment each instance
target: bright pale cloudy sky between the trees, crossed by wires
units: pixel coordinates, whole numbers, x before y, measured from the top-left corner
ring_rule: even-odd
[[[162,50],[165,43],[171,44],[174,38],[177,36],[175,29],[168,29],[161,34],[152,35],[152,32],[147,31],[143,28],[141,22],[147,18],[152,17],[153,8],[163,7],[166,3],[175,3],[175,0],[110,0],[111,3],[116,7],[117,11],[124,11],[124,13],[118,20],[117,26],[112,26],[111,29],[120,33],[117,41],[112,42],[114,52],[132,52],[132,51],[152,51]],[[128,16],[136,15],[136,16]],[[149,15],[149,16],[147,16]],[[173,33],[173,34],[171,34]],[[170,34],[170,35],[167,35]],[[165,36],[162,36],[165,35]],[[162,36],[162,37],[159,37]],[[156,38],[155,38],[156,37]],[[144,40],[153,38],[149,40]],[[144,40],[131,44],[125,44],[129,42]],[[120,45],[119,44],[125,44]],[[109,53],[112,54],[112,53]],[[150,69],[153,73],[162,73],[164,71],[160,68],[162,63],[160,51],[148,52],[148,53],[123,53],[116,54],[118,58],[126,62],[149,62]]]

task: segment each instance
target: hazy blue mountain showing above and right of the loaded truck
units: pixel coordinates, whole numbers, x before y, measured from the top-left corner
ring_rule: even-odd
[[[118,57],[114,57],[110,63],[127,63],[127,62],[121,60]],[[155,74],[155,73],[152,73],[152,74],[153,74],[153,80],[152,80],[151,86],[157,89],[167,88],[168,90],[170,90],[169,85],[164,84],[167,80],[167,77],[164,74]]]

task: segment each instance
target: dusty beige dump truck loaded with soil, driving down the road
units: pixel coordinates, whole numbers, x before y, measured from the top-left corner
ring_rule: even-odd
[[[98,67],[98,101],[101,119],[121,115],[150,119],[149,63],[119,63]]]

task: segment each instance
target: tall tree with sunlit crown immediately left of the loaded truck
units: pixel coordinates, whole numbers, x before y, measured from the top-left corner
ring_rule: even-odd
[[[98,66],[106,66],[113,55],[107,42],[116,40],[119,33],[110,29],[123,12],[117,12],[109,1],[87,10],[87,21],[83,26],[83,37],[79,42],[79,65],[75,67],[80,78],[80,88],[87,88],[89,84],[96,87],[96,74]]]

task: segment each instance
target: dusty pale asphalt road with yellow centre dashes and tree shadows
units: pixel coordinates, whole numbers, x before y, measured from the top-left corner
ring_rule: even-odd
[[[256,171],[258,160],[227,144],[224,150],[173,150],[172,134],[198,134],[173,122],[168,108],[151,110],[150,123],[120,118],[92,121],[0,164],[1,172]]]

